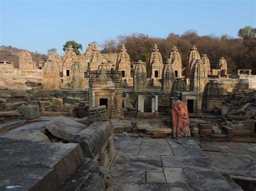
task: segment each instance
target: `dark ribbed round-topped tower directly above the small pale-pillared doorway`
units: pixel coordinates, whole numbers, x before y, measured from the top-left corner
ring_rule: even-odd
[[[146,67],[141,60],[137,62],[133,74],[133,90],[145,91],[147,89]]]

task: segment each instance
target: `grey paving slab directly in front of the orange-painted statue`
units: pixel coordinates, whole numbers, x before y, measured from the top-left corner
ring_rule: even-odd
[[[194,140],[168,140],[174,156],[207,157]]]

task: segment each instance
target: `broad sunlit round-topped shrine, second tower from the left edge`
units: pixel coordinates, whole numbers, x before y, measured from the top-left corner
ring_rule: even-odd
[[[43,69],[43,89],[60,89],[59,68],[55,60],[48,60]]]

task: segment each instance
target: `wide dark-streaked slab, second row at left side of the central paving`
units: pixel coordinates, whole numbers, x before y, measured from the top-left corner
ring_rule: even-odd
[[[160,172],[163,169],[161,160],[149,155],[117,154],[111,169],[129,171]]]

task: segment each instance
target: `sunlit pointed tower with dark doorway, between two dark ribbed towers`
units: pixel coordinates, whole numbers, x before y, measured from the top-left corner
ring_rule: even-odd
[[[164,68],[163,59],[157,47],[154,44],[153,52],[147,60],[147,78],[161,78]]]

